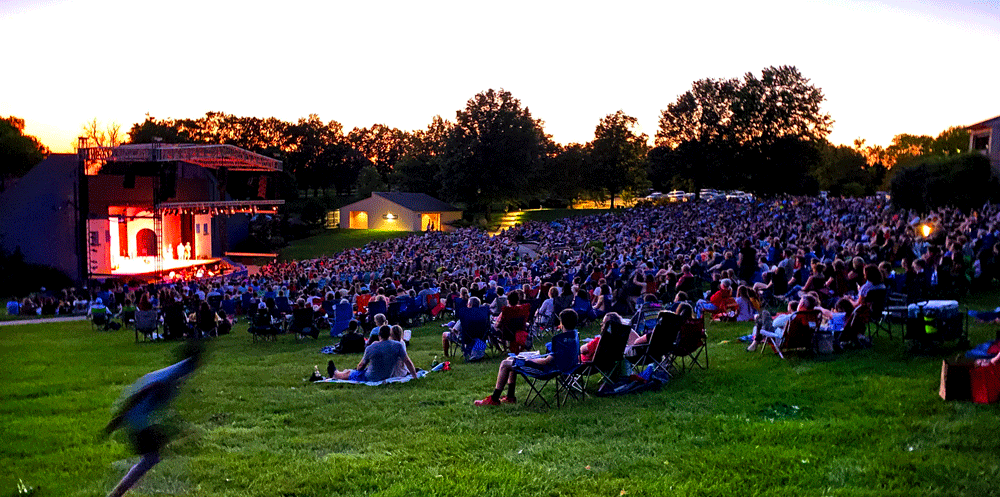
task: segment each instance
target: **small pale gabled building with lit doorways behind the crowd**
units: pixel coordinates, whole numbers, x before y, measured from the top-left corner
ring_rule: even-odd
[[[424,193],[374,192],[340,208],[340,227],[389,231],[450,231],[462,210]]]

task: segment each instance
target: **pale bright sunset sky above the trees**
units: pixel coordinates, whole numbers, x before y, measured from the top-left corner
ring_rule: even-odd
[[[489,88],[559,143],[619,109],[652,137],[692,82],[780,65],[823,90],[834,143],[1000,114],[1000,0],[0,0],[0,33],[0,116],[53,152],[147,114],[422,129]]]

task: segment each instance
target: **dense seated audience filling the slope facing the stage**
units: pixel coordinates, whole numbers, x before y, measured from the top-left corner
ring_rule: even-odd
[[[322,328],[346,301],[370,329],[368,306],[384,313],[383,304],[401,305],[403,317],[413,318],[477,302],[496,319],[513,301],[527,306],[529,322],[554,325],[564,309],[583,324],[610,312],[631,316],[652,301],[750,321],[765,305],[795,310],[805,300],[838,326],[873,289],[910,302],[955,297],[991,285],[998,268],[1000,209],[993,205],[916,213],[878,198],[690,202],[527,222],[494,236],[473,228],[425,232],[221,282],[43,291],[8,302],[7,311],[83,313],[100,299],[116,313],[180,305],[188,315],[206,302],[223,319],[266,311],[276,323],[312,309]],[[460,335],[456,328],[449,332]],[[511,334],[507,343],[523,340]]]

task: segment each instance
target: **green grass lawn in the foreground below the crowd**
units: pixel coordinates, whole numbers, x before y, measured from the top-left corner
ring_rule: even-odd
[[[240,323],[210,343],[174,404],[179,437],[130,495],[997,495],[997,406],[938,398],[941,356],[883,336],[782,361],[747,353],[748,328],[711,324],[710,368],[658,392],[543,410],[472,405],[496,359],[399,385],[305,383],[331,339],[251,343]],[[418,367],[440,354],[440,330],[414,330]],[[993,333],[975,325],[972,341]],[[19,479],[36,495],[106,494],[137,460],[99,436],[109,408],[177,344],[86,322],[0,337],[0,495]]]

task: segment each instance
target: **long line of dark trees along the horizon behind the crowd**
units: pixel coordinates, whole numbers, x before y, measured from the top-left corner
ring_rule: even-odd
[[[823,101],[797,68],[780,66],[693,82],[661,111],[652,144],[621,110],[596,123],[590,142],[555,143],[544,122],[503,89],[476,94],[452,120],[435,116],[415,131],[383,124],[346,131],[315,114],[290,122],[209,112],[195,119],[147,115],[127,134],[132,143],[223,143],[274,157],[285,166],[286,197],[392,189],[486,213],[547,200],[614,201],[650,189],[860,196],[888,189],[896,171],[922,157],[968,146],[968,132],[957,127],[936,138],[900,134],[887,147],[862,139],[832,145],[833,119]],[[96,120],[84,126],[97,129]]]

